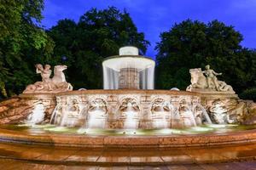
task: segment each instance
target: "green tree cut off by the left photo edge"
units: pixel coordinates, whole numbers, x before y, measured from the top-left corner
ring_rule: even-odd
[[[1,94],[20,94],[35,81],[34,63],[49,58],[54,42],[39,25],[43,0],[0,2]]]

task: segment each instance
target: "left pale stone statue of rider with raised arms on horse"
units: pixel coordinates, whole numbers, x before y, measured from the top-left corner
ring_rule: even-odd
[[[50,65],[36,65],[36,72],[41,74],[42,82],[30,84],[23,91],[23,94],[58,94],[61,92],[72,91],[73,87],[66,82],[63,71],[67,69],[67,65],[55,65],[54,76],[51,76]]]

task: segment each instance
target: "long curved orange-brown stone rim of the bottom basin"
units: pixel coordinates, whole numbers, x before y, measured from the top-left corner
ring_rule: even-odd
[[[3,143],[39,144],[67,147],[192,147],[224,144],[250,144],[256,142],[256,130],[236,133],[207,133],[171,136],[108,136],[57,133],[26,133],[0,129]]]

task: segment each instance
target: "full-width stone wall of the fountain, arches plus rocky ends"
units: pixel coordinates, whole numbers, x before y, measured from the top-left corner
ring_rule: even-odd
[[[62,94],[20,94],[0,102],[0,124],[24,122],[35,111],[38,103],[44,105],[45,123],[49,122],[58,103],[55,124],[61,126],[69,125],[69,122],[61,121],[63,116],[67,116],[71,122],[79,120],[79,126],[84,126],[90,116],[99,116],[99,120],[108,119],[108,125],[99,126],[124,127],[127,118],[125,112],[129,111],[127,105],[131,105],[135,112],[132,122],[136,122],[138,127],[150,128],[154,123],[152,120],[166,121],[171,127],[177,123],[178,127],[180,123],[186,124],[185,119],[175,122],[175,118],[170,119],[170,116],[177,113],[182,115],[181,112],[186,113],[185,110],[194,113],[198,125],[202,114],[201,108],[196,106],[198,104],[203,105],[213,123],[256,124],[256,104],[241,100],[236,94],[170,90],[85,90]],[[162,114],[166,118],[161,117]],[[163,123],[160,126],[164,126]]]

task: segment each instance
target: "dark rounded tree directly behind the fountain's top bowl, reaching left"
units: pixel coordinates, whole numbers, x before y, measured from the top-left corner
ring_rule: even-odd
[[[128,13],[117,8],[90,9],[79,22],[60,20],[49,29],[55,41],[55,64],[66,64],[74,88],[102,88],[102,60],[118,54],[125,45],[145,54],[149,42],[137,31]]]

